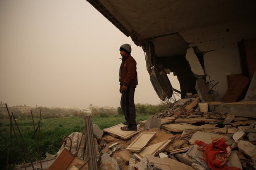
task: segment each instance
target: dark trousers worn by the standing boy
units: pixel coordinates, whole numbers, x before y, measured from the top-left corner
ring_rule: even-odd
[[[121,108],[129,127],[137,125],[134,93],[135,87],[128,87],[127,91],[122,91],[121,95]]]

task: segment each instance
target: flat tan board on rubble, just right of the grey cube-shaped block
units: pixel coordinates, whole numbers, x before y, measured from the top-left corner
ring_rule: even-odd
[[[203,128],[195,125],[190,125],[188,123],[176,123],[176,124],[167,124],[162,125],[166,130],[173,132],[182,132],[183,130],[202,130]]]

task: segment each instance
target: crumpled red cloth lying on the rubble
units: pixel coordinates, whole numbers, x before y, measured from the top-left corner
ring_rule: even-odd
[[[200,140],[196,140],[194,143],[199,145],[199,151],[204,151],[204,161],[212,170],[241,170],[226,165],[232,149],[225,143],[224,138],[213,140],[211,144],[206,144]]]

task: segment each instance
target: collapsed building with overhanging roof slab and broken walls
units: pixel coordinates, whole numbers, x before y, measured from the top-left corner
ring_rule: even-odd
[[[245,98],[256,64],[254,0],[87,1],[145,51],[161,100],[173,95],[171,72],[182,98],[204,93],[204,86],[211,94],[204,94],[205,101]]]

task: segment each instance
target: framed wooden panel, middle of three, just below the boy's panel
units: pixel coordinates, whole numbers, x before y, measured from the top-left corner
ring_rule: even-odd
[[[128,151],[139,152],[146,147],[148,142],[156,135],[156,132],[145,132],[140,135],[126,148]]]

